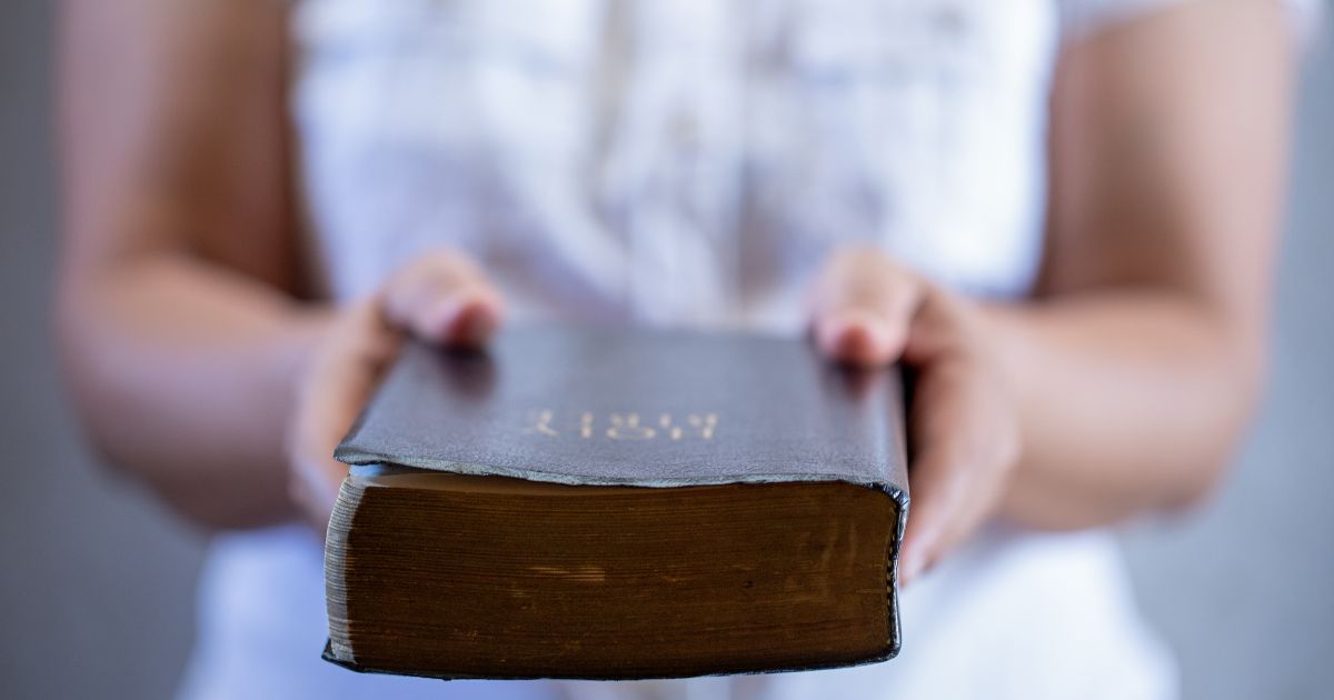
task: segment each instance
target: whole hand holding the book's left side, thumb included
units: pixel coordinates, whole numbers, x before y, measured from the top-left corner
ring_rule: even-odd
[[[471,260],[452,252],[419,257],[370,299],[339,312],[301,377],[287,452],[292,500],[328,525],[347,465],[334,448],[398,353],[404,333],[446,347],[475,347],[500,325],[499,291]]]

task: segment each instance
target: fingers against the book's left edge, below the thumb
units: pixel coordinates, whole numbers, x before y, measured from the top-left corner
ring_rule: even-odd
[[[394,357],[399,336],[374,303],[354,307],[331,329],[301,380],[288,433],[292,499],[316,527],[328,523],[347,465],[332,456]]]

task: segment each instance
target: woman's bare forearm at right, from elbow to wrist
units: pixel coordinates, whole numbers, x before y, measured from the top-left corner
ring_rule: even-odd
[[[1021,412],[1007,517],[1083,528],[1203,495],[1258,393],[1262,348],[1186,295],[1109,289],[980,311]]]

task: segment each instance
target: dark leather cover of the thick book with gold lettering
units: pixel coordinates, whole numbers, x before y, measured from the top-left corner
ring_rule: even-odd
[[[410,468],[590,488],[867,488],[896,513],[884,553],[888,639],[874,657],[839,665],[899,651],[895,583],[908,493],[895,368],[838,367],[804,339],[736,332],[511,328],[472,352],[410,340],[335,456],[354,475]],[[772,671],[783,669],[792,668]]]

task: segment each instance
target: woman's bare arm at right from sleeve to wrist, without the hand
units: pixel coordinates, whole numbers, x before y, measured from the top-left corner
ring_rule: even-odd
[[[1265,364],[1293,51],[1281,3],[1190,3],[1069,47],[1035,304],[988,313],[1026,416],[1006,512],[1191,503]]]

